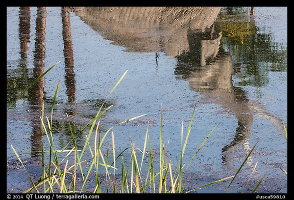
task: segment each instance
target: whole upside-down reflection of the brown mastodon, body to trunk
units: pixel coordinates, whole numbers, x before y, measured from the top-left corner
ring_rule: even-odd
[[[77,7],[72,9],[112,44],[129,52],[155,52],[156,69],[159,53],[176,58],[175,74],[189,81],[190,89],[200,92],[203,101],[218,104],[238,121],[235,136],[223,148],[223,160],[228,163],[228,152],[242,145],[247,152],[253,116],[258,113],[274,124],[279,119],[249,100],[242,88],[233,85],[232,75],[238,65],[220,46],[222,33],[216,31],[220,7]],[[254,14],[251,9],[250,15]],[[235,24],[233,33],[242,39],[254,36],[254,17]],[[234,28],[238,27],[238,28]],[[224,29],[226,31],[226,29]],[[224,38],[223,38],[224,39]],[[226,38],[225,38],[226,39]],[[252,53],[251,53],[252,54]]]

